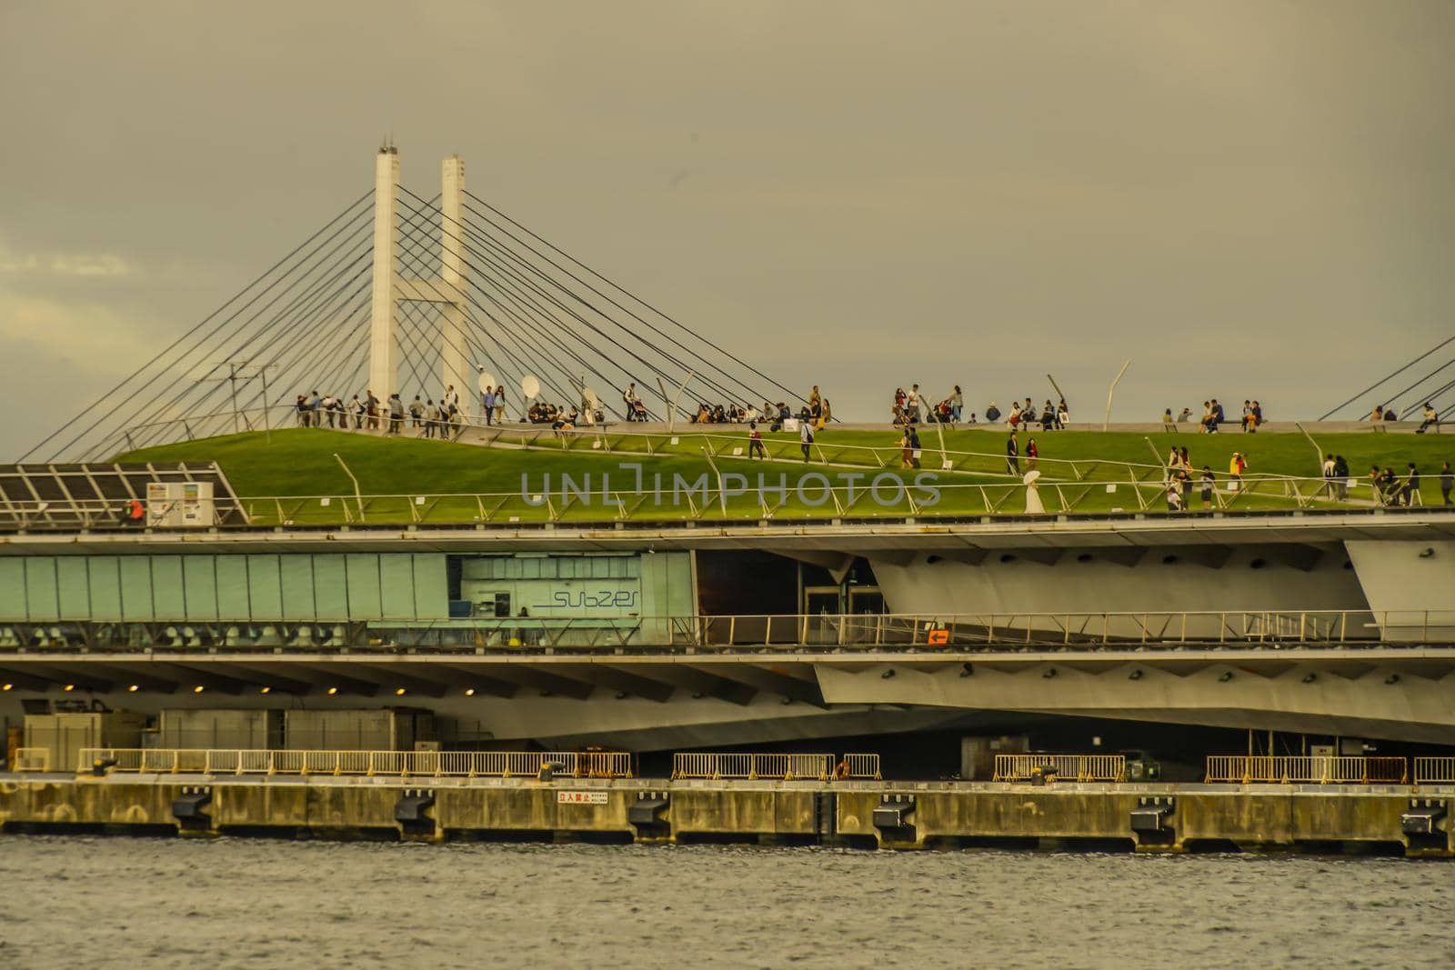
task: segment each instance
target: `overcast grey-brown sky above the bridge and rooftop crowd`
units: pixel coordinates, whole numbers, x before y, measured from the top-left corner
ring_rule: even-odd
[[[0,1],[13,457],[372,182],[835,412],[1311,417],[1455,332],[1455,3]]]

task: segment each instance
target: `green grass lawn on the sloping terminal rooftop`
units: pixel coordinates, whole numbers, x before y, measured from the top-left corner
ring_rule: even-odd
[[[837,478],[841,473],[860,471],[867,478],[888,471],[901,480],[912,480],[912,471],[899,471],[899,435],[893,430],[835,430],[821,432],[815,445],[815,465],[805,465],[796,435],[765,433],[771,462],[749,462],[746,430],[723,428],[716,430],[678,432],[677,435],[581,433],[557,439],[549,432],[509,429],[505,441],[528,442],[531,448],[482,448],[469,444],[377,435],[343,433],[329,429],[284,429],[272,432],[271,444],[262,433],[233,435],[162,445],[119,455],[119,461],[217,461],[233,489],[247,500],[252,518],[259,524],[332,524],[356,516],[354,484],[345,474],[338,454],[358,477],[365,500],[368,522],[533,522],[556,519],[602,521],[615,518],[615,509],[604,506],[598,494],[594,503],[579,499],[560,502],[560,476],[569,474],[578,483],[585,473],[592,476],[592,487],[599,492],[602,476],[611,477],[611,490],[634,492],[634,474],[623,470],[623,462],[640,462],[646,487],[653,474],[661,474],[666,489],[674,476],[694,481],[704,473],[716,487],[709,457],[717,471],[745,473],[749,483],[758,473],[776,483],[784,476],[790,489],[799,478],[818,471]],[[1138,435],[1125,432],[1049,432],[1020,433],[1024,451],[1029,438],[1040,446],[1039,468],[1043,473],[1042,499],[1051,512],[1109,512],[1149,510],[1165,508],[1160,493],[1161,458],[1173,442],[1187,445],[1195,467],[1211,465],[1219,481],[1227,477],[1228,458],[1234,451],[1248,455],[1248,490],[1237,496],[1224,494],[1231,510],[1293,509],[1302,505],[1328,508],[1330,503],[1308,499],[1320,490],[1318,483],[1289,484],[1270,476],[1318,476],[1320,462],[1314,446],[1301,435]],[[986,515],[1020,513],[1024,509],[1024,489],[1004,474],[1004,430],[959,429],[944,432],[946,458],[953,468],[941,471],[940,436],[934,428],[921,429],[924,471],[938,473],[941,500],[933,509],[918,509],[921,515]],[[1155,446],[1155,452],[1152,446]],[[1440,436],[1344,433],[1320,436],[1324,451],[1343,454],[1352,474],[1363,477],[1371,464],[1390,465],[1403,474],[1408,461],[1416,461],[1424,476],[1422,496],[1426,503],[1439,503],[1436,471],[1440,461],[1455,454],[1455,441]],[[741,454],[733,454],[739,449]],[[650,454],[649,454],[650,452]],[[829,465],[829,467],[825,467]],[[1024,457],[1021,467],[1026,467]],[[534,506],[522,497],[522,476],[528,493],[538,494],[550,476],[553,497],[549,505]],[[1144,483],[1141,489],[1126,484]],[[1122,483],[1112,493],[1106,483]],[[835,484],[842,484],[835,480]],[[888,484],[888,483],[886,483]],[[810,497],[819,486],[806,483]],[[1298,490],[1298,496],[1291,492]],[[1138,500],[1138,493],[1141,500]],[[320,497],[327,497],[324,505]],[[841,494],[841,500],[845,496]],[[1369,503],[1369,490],[1356,490],[1353,497]],[[726,515],[716,494],[707,508],[700,496],[694,505],[674,508],[656,505],[653,499],[621,496],[634,519],[760,519],[764,508],[754,493],[732,496]],[[770,509],[781,499],[768,496]],[[1195,496],[1195,508],[1200,502]],[[905,516],[914,510],[901,503],[883,508],[870,497],[858,499],[841,512],[834,502],[805,506],[790,492],[789,505],[778,515]]]

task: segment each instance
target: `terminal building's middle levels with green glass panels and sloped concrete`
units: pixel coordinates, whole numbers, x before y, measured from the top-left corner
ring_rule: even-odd
[[[1452,534],[1438,509],[16,532],[0,714],[388,701],[447,743],[630,750],[1046,716],[1445,745]]]

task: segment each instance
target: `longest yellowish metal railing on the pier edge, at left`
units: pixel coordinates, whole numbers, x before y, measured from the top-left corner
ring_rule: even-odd
[[[627,752],[423,752],[83,747],[77,772],[97,762],[122,772],[201,775],[535,777],[546,765],[572,778],[631,778]]]

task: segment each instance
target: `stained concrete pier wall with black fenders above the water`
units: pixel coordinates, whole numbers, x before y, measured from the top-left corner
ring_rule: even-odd
[[[1381,851],[1455,858],[1455,785],[0,775],[6,832]]]

